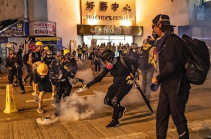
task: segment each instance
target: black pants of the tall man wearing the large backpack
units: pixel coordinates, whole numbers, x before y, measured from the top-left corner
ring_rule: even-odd
[[[171,115],[174,124],[177,127],[177,132],[181,136],[180,139],[188,139],[188,127],[185,117],[185,106],[189,97],[189,86],[181,82],[180,89],[162,88],[159,96],[156,117],[156,132],[157,139],[165,139],[168,130],[169,116]]]

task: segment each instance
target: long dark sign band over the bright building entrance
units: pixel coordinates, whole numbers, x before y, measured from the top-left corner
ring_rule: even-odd
[[[78,35],[133,35],[142,36],[142,26],[77,25]]]

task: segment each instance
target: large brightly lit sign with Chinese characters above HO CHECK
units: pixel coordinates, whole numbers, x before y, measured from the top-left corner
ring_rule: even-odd
[[[84,25],[135,25],[135,0],[81,0]]]

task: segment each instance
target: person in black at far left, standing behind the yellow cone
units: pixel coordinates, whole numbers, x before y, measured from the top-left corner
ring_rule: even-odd
[[[14,76],[16,76],[19,86],[21,87],[21,94],[25,94],[25,89],[22,83],[22,76],[23,76],[23,62],[22,57],[20,57],[20,53],[15,54],[13,50],[10,50],[9,56],[6,58],[6,66],[9,69],[8,79],[9,84],[13,83]]]

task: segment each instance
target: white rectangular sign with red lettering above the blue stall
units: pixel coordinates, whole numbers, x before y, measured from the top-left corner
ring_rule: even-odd
[[[30,36],[56,36],[56,23],[34,21],[29,23]]]

